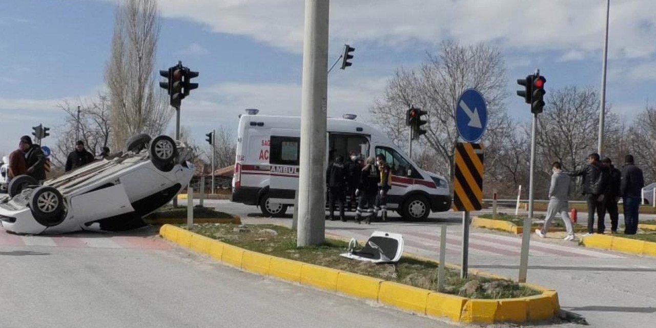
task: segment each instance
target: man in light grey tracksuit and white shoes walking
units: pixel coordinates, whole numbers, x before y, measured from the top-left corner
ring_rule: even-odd
[[[551,168],[554,173],[551,175],[549,205],[546,207],[546,218],[544,219],[542,229],[536,229],[535,234],[544,238],[547,229],[549,228],[549,223],[554,217],[556,217],[556,214],[560,213],[560,217],[563,219],[565,227],[567,228],[567,237],[565,237],[565,240],[572,240],[574,239],[574,229],[572,228],[572,222],[569,219],[569,213],[567,213],[567,208],[569,207],[567,201],[569,201],[571,178],[568,174],[563,172],[563,167],[560,162],[554,162],[551,165]]]

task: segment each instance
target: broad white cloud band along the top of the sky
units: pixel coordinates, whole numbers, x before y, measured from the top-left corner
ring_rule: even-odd
[[[302,49],[304,1],[160,0],[165,17],[198,22],[219,33],[247,35],[290,52]],[[656,1],[611,3],[609,56],[656,53]],[[600,51],[605,1],[596,0],[333,0],[333,43],[372,42],[407,47],[443,39],[491,41],[514,49],[554,50],[569,56]],[[567,56],[564,56],[567,58]]]

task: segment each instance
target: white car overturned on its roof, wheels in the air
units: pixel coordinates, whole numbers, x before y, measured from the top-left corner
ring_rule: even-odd
[[[127,152],[112,154],[37,184],[16,176],[0,198],[0,224],[16,234],[77,230],[115,232],[146,225],[144,216],[169,203],[194,173],[191,150],[169,136],[138,134]]]

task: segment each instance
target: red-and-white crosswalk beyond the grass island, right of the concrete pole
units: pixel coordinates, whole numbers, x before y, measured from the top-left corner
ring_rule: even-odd
[[[327,235],[334,237],[355,237],[358,240],[366,240],[375,229],[349,229],[331,228]],[[384,231],[383,227],[378,230]],[[440,250],[439,230],[434,234],[430,232],[400,232],[403,235],[405,250],[410,253],[425,255],[436,253]],[[462,232],[447,232],[446,240],[447,255],[460,254],[462,252]],[[499,234],[487,234],[472,232],[469,238],[469,254],[480,256],[520,256],[522,249],[521,236],[503,236]],[[529,255],[531,256],[567,256],[585,258],[624,258],[617,253],[596,251],[586,249],[573,242],[554,243],[531,239]]]

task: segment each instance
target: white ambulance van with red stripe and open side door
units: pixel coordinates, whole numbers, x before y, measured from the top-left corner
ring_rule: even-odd
[[[264,216],[283,216],[298,190],[300,117],[246,112],[239,118],[232,201],[256,205]],[[356,120],[356,115],[328,118],[326,141],[326,165],[337,155],[348,160],[350,152],[363,159],[383,154],[392,168],[387,207],[403,218],[424,220],[431,211],[451,208],[443,176],[420,169],[380,129]]]

